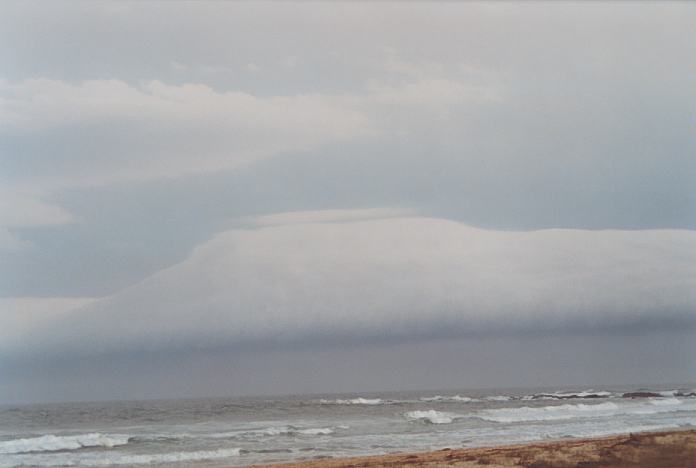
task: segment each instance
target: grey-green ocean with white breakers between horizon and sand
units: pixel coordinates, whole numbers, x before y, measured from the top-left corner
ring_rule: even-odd
[[[694,426],[693,386],[0,406],[0,467],[241,466]]]

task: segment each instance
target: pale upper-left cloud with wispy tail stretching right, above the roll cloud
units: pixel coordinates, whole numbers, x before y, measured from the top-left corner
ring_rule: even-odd
[[[137,86],[120,80],[0,81],[0,163],[7,168],[4,177],[23,187],[0,193],[8,195],[0,201],[2,246],[22,244],[10,227],[72,221],[42,200],[51,191],[229,171],[374,138],[403,124],[394,109],[422,118],[429,109],[494,96],[485,86],[428,76],[372,81],[352,94],[278,96],[156,80]]]

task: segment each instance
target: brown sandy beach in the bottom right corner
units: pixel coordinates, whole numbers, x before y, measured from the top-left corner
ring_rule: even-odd
[[[646,432],[524,445],[311,460],[270,466],[274,468],[395,466],[693,468],[696,467],[696,430]]]

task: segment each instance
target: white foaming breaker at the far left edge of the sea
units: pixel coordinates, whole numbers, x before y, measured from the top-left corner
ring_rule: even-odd
[[[130,437],[117,434],[78,434],[57,436],[47,434],[40,437],[13,439],[0,442],[0,453],[54,452],[58,450],[78,450],[85,447],[112,448],[128,443]]]

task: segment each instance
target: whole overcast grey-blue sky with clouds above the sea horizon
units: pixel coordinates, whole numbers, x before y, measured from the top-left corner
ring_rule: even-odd
[[[695,382],[694,21],[0,3],[0,402]]]

